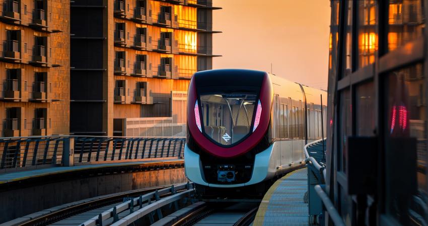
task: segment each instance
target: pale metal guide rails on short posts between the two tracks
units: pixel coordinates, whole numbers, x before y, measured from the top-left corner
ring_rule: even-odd
[[[115,218],[115,215],[128,210],[129,214],[123,217],[122,219],[116,219],[113,220],[113,224],[111,225],[127,225],[127,218],[131,218],[132,221],[137,220],[138,218],[141,218],[148,213],[155,211],[165,205],[168,205],[178,199],[181,199],[182,197],[186,196],[189,192],[193,192],[193,183],[182,183],[177,186],[172,185],[171,187],[164,188],[161,190],[156,190],[154,192],[150,192],[144,195],[140,195],[139,197],[133,198],[132,200],[120,203],[113,208],[110,208],[102,213],[99,213],[98,215],[92,217],[91,219],[83,222],[80,224],[81,226],[95,226],[97,224],[103,225],[103,221],[113,217]],[[176,193],[177,190],[183,190],[186,189],[187,191]],[[164,195],[167,193],[171,193],[171,196],[168,196],[164,199],[160,199],[160,195]],[[155,198],[156,201],[151,203],[152,198]],[[142,206],[142,203],[145,202],[147,205],[144,207]],[[133,211],[133,207],[139,205],[139,209],[136,211]],[[128,223],[129,224],[129,223]]]

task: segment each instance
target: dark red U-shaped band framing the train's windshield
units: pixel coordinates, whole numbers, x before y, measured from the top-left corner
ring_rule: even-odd
[[[263,78],[263,82],[260,89],[260,103],[262,106],[260,123],[257,129],[248,136],[241,143],[232,146],[230,148],[220,147],[219,145],[208,140],[198,129],[195,122],[195,112],[194,106],[197,98],[196,93],[196,84],[195,84],[195,76],[192,77],[189,84],[189,91],[187,96],[187,124],[189,126],[189,133],[193,136],[195,142],[198,146],[217,157],[221,158],[230,158],[242,155],[252,148],[254,148],[257,143],[265,135],[270,121],[270,111],[272,107],[272,98],[273,98],[273,89],[271,86],[271,82],[269,76],[266,74]],[[200,112],[199,112],[199,115]]]

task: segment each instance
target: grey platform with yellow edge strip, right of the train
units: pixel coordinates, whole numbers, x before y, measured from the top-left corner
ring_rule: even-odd
[[[260,203],[253,226],[309,224],[307,168],[295,170],[278,179]]]

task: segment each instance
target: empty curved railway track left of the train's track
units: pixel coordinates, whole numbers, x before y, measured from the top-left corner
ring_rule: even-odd
[[[147,193],[156,191],[158,189],[167,188],[167,187],[168,186],[151,187],[151,188],[146,188],[146,189],[133,190],[133,191],[129,191],[129,192],[121,192],[120,194],[109,195],[109,196],[102,197],[99,199],[95,199],[92,201],[88,201],[88,202],[84,202],[81,204],[69,206],[69,207],[66,207],[63,209],[59,209],[57,211],[48,213],[48,214],[43,215],[41,217],[31,219],[25,223],[20,224],[20,225],[30,226],[30,225],[55,224],[58,221],[64,221],[65,219],[72,219],[74,216],[77,216],[81,213],[85,213],[85,212],[90,213],[91,210],[96,210],[94,212],[97,212],[103,208],[107,208],[107,209],[111,208],[112,206],[121,203],[123,198],[125,198],[125,197],[135,197],[138,195],[147,194]],[[167,196],[167,195],[169,195],[169,194],[165,194],[163,196]],[[97,213],[94,213],[94,214],[96,215]],[[70,223],[70,224],[72,224],[72,223]],[[79,223],[76,223],[76,224],[79,224]]]

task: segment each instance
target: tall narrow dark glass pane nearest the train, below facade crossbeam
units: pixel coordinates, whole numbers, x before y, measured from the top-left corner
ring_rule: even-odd
[[[339,171],[346,171],[346,141],[351,135],[351,101],[350,91],[343,90],[340,93],[340,154],[338,156]]]

